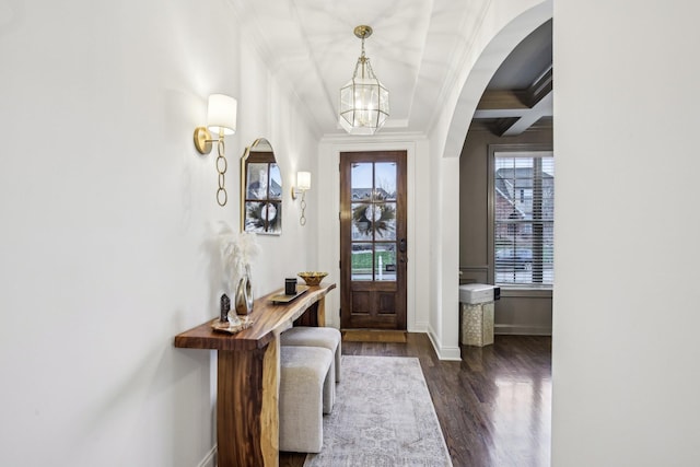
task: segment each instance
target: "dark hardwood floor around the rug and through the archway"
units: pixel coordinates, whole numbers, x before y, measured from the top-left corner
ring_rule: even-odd
[[[423,334],[407,343],[343,341],[342,353],[420,360],[455,467],[549,466],[551,338],[495,336],[492,346],[463,346],[462,362],[438,360]],[[280,466],[304,458],[281,453]]]

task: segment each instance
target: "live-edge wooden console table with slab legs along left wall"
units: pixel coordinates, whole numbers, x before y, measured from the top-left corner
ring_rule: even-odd
[[[279,291],[262,296],[253,305],[253,326],[235,335],[214,331],[210,319],[175,336],[175,347],[218,350],[219,467],[279,465],[278,337],[307,310],[324,326],[325,296],[335,288],[322,283],[284,304],[270,301]]]

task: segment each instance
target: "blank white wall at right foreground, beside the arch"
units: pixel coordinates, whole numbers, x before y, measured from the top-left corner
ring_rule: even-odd
[[[699,15],[555,4],[555,466],[700,459]]]

